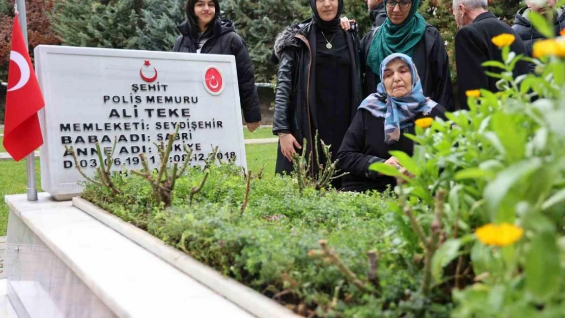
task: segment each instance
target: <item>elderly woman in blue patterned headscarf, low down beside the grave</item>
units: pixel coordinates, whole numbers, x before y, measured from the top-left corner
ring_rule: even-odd
[[[377,93],[359,106],[337,154],[340,168],[349,172],[342,181],[346,191],[384,191],[396,185],[393,177],[369,171],[369,166],[384,162],[401,169],[389,151],[412,155],[414,143],[403,134],[414,133],[416,119],[444,117],[445,108],[424,96],[418,71],[408,55],[391,54],[380,67]]]

